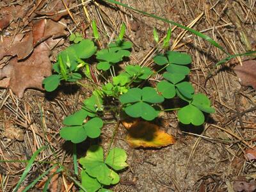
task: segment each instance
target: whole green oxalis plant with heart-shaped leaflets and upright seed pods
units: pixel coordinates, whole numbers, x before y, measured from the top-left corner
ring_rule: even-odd
[[[95,41],[99,38],[97,28],[93,22]],[[53,65],[54,74],[43,81],[47,92],[58,88],[62,82],[81,83],[86,77],[93,88],[92,95],[85,98],[81,109],[64,118],[60,136],[64,140],[74,143],[74,164],[76,164],[76,143],[86,138],[98,138],[104,124],[106,113],[113,115],[118,126],[124,118],[122,114],[132,118],[142,118],[151,121],[157,118],[160,111],[177,110],[177,118],[182,124],[202,125],[205,121],[204,113],[214,113],[211,102],[203,93],[195,93],[191,83],[186,81],[189,75],[188,65],[192,62],[191,56],[176,51],[166,51],[171,30],[164,39],[165,49],[154,56],[154,63],[160,68],[157,72],[149,67],[140,65],[126,65],[118,72],[120,63],[131,54],[132,43],[124,40],[125,25],[122,24],[118,38],[105,49],[98,49],[93,40],[83,39],[74,34],[70,40],[74,44],[58,54],[58,60]],[[158,34],[154,29],[154,38],[158,42]],[[159,45],[160,46],[160,45]],[[100,71],[98,84],[93,77],[92,65]],[[154,86],[145,86],[150,77],[161,74],[162,80]],[[164,109],[164,101],[179,97],[186,102],[181,108]],[[111,191],[109,185],[119,182],[118,172],[127,167],[127,155],[122,148],[112,148],[104,154],[102,147],[92,145],[86,156],[79,159],[83,167],[81,176],[81,191]]]

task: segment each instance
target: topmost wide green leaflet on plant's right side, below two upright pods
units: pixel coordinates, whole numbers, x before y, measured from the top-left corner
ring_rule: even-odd
[[[169,63],[178,64],[178,65],[188,65],[191,63],[192,59],[189,54],[176,52],[176,51],[168,51],[166,52]]]

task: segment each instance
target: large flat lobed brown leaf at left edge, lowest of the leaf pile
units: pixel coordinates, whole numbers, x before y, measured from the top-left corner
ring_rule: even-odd
[[[43,42],[35,47],[28,59],[18,61],[17,58],[12,58],[8,65],[0,69],[0,87],[11,88],[18,97],[23,96],[26,88],[43,90],[44,77],[51,75],[49,56],[49,48]]]

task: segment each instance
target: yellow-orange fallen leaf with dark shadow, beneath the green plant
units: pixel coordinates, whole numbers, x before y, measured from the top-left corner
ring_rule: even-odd
[[[137,147],[165,147],[175,143],[172,135],[159,129],[159,126],[150,122],[134,120],[122,122],[128,130],[127,143],[132,148]]]

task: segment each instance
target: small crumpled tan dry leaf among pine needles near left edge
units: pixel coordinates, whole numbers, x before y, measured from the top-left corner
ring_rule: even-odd
[[[4,122],[3,135],[11,140],[16,139],[18,141],[24,141],[24,133],[22,129],[15,128],[10,120],[6,120],[6,122]]]

